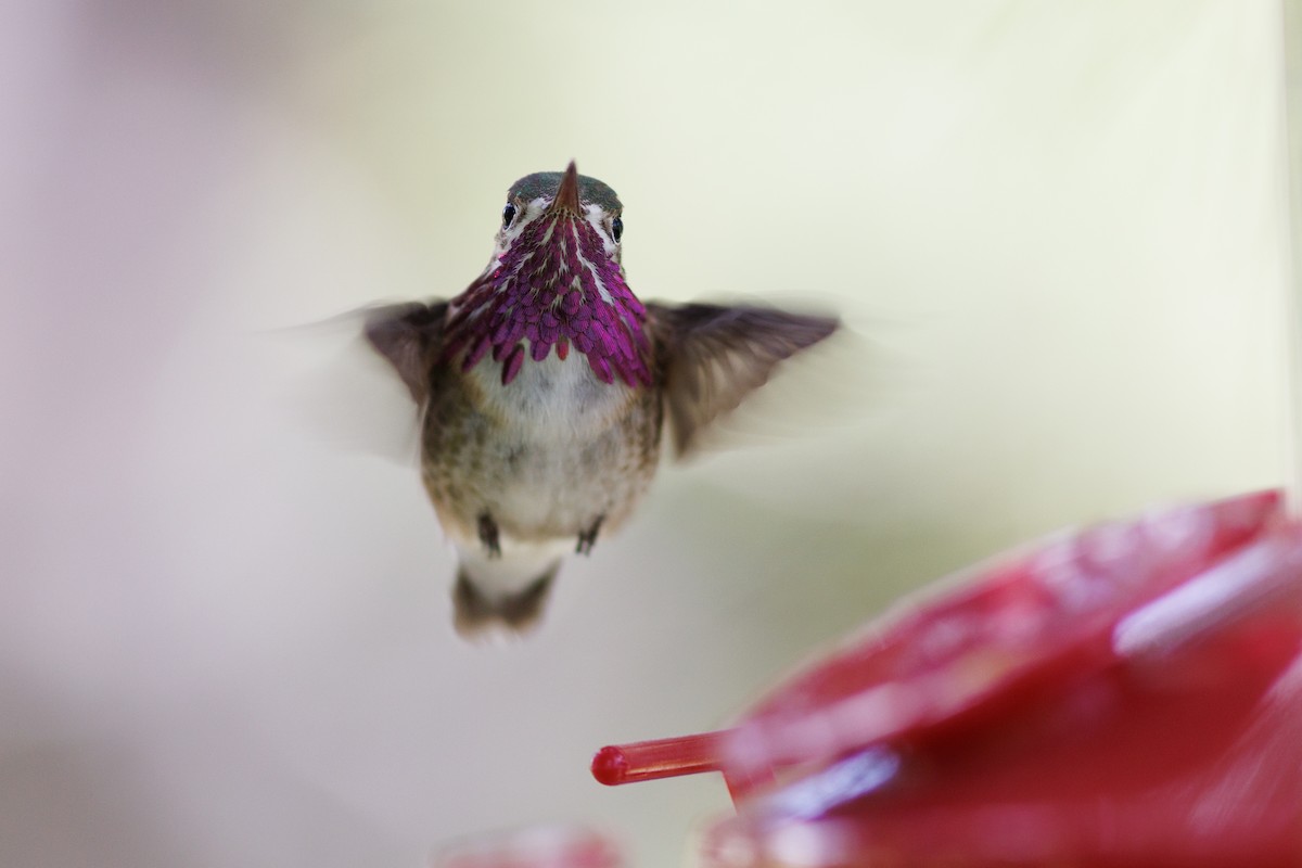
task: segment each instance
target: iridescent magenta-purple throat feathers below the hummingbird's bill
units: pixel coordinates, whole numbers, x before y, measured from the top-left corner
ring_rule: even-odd
[[[569,213],[544,213],[452,302],[444,360],[464,351],[461,368],[470,371],[491,351],[506,385],[526,354],[542,362],[555,346],[564,359],[573,344],[603,383],[618,376],[651,385],[644,325],[646,308],[596,229]]]

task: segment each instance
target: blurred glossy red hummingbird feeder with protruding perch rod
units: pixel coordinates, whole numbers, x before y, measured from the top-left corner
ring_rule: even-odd
[[[749,782],[720,868],[1302,865],[1299,605],[1276,495],[1152,513],[911,601],[732,730],[599,759]]]

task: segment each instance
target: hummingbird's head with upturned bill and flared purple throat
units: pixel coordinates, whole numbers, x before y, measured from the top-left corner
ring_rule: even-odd
[[[570,346],[603,383],[650,385],[646,308],[620,265],[624,206],[578,173],[536,172],[512,185],[492,260],[449,306],[444,358],[470,371],[490,353],[509,384],[526,358]]]

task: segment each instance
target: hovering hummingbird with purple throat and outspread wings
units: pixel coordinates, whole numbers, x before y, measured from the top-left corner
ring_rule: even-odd
[[[574,163],[526,176],[464,293],[366,319],[422,410],[461,632],[538,617],[562,556],[590,553],[646,492],[667,416],[690,453],[780,360],[837,328],[763,307],[643,305],[620,264],[622,210]]]

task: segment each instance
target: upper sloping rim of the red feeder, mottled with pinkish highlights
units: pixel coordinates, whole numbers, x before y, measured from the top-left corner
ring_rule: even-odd
[[[1279,504],[1263,492],[1062,534],[906,600],[762,700],[725,746],[727,765],[825,761],[1006,714],[1115,661],[1126,614],[1260,539]]]

